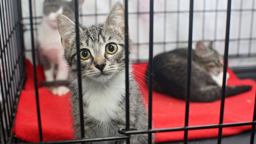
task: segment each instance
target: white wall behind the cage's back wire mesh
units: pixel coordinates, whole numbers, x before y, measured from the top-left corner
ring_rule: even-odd
[[[110,5],[116,0],[85,0],[82,8],[82,14],[105,14],[108,13]],[[42,2],[43,0],[34,0],[34,16],[42,16]],[[95,9],[95,2],[97,2],[97,8]],[[204,3],[205,2],[205,3]],[[154,0],[154,11],[163,12],[165,0]],[[139,4],[139,10],[138,5]],[[242,6],[240,0],[232,0],[232,12],[231,12],[231,24],[230,24],[230,47],[229,54],[248,54],[249,40],[242,40],[238,42],[235,39],[238,38],[249,38],[250,32],[252,31],[252,37],[256,38],[256,14],[254,14],[254,28],[251,30],[251,17],[252,8],[256,8],[256,3],[252,6],[252,0],[243,0]],[[164,14],[154,14],[154,42],[176,42],[182,41],[185,43],[173,43],[166,44],[166,50],[172,50],[178,47],[186,47],[188,45],[188,16],[189,16],[189,0],[180,0],[180,7],[178,8],[178,0],[166,0],[166,10],[173,11],[172,13],[166,14],[166,28],[164,28]],[[212,10],[212,12],[197,12],[204,10]],[[216,0],[194,0],[194,22],[193,22],[193,41],[197,40],[222,40],[215,43],[215,48],[220,52],[224,53],[224,39],[226,30],[226,7],[227,0],[218,0],[216,10]],[[129,0],[128,8],[130,13],[134,12],[149,12],[149,0]],[[243,12],[239,9],[242,8]],[[176,11],[185,11],[177,13]],[[254,11],[253,11],[254,12]],[[255,13],[255,12],[254,12]],[[205,14],[205,15],[204,15]],[[217,30],[215,33],[215,16],[217,18]],[[241,19],[240,19],[241,14]],[[28,0],[22,0],[22,15],[29,17],[28,12]],[[177,22],[177,18],[179,20]],[[203,17],[205,20],[203,21]],[[103,16],[82,16],[80,17],[83,25],[94,24],[95,22],[104,22],[106,15]],[[241,21],[241,23],[240,23]],[[40,22],[40,19],[36,20]],[[203,22],[205,22],[203,30]],[[28,19],[24,20],[24,23],[29,23]],[[138,24],[138,25],[137,25]],[[240,25],[240,28],[239,28]],[[27,28],[30,28],[29,25]],[[239,37],[240,29],[240,37]],[[164,30],[166,30],[166,38],[164,39]],[[133,50],[134,58],[140,58],[141,60],[148,59],[148,41],[149,41],[149,14],[129,14],[129,32],[130,38],[134,43],[146,43],[143,45],[135,45]],[[178,33],[178,35],[177,35]],[[177,37],[178,36],[178,37]],[[26,47],[30,49],[30,33],[27,31],[25,34]],[[235,40],[235,41],[232,41]],[[239,50],[238,50],[239,45]],[[193,44],[194,46],[194,44]],[[163,52],[164,44],[154,44],[154,55]],[[252,40],[251,53],[256,54],[256,40]],[[29,55],[29,54],[28,54]],[[250,63],[250,64],[249,64]],[[251,58],[244,60],[231,60],[230,66],[236,66],[238,64],[245,65],[256,65],[256,59]]]

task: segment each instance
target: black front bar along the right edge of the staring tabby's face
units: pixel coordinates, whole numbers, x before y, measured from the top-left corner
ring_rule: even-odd
[[[124,0],[126,130],[130,130],[128,0]],[[130,144],[130,137],[126,139]]]

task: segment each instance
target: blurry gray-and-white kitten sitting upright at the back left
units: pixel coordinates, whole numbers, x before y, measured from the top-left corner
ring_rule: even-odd
[[[79,0],[80,5],[83,0]],[[74,0],[44,0],[43,19],[38,27],[38,47],[40,63],[44,66],[46,82],[55,80],[67,80],[68,68],[63,60],[64,50],[60,42],[60,35],[57,30],[57,15],[64,14],[74,19]],[[57,70],[56,70],[57,66]],[[54,74],[56,71],[56,78]],[[51,89],[53,94],[59,96],[69,92],[65,86],[58,86]]]

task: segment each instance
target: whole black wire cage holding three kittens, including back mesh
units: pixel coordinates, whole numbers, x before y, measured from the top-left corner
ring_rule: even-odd
[[[26,1],[26,2],[25,2]],[[29,8],[29,16],[23,16],[22,15],[22,2],[26,3]],[[78,22],[79,18],[80,21],[83,22],[83,18],[86,17],[94,17],[95,23],[98,22],[99,16],[106,16],[106,13],[98,13],[97,12],[97,0],[94,0],[94,10],[95,12],[92,14],[84,14],[81,12],[81,14],[78,14],[78,0],[75,0],[75,20]],[[1,68],[1,74],[0,74],[0,88],[1,88],[1,102],[0,102],[0,122],[1,122],[1,143],[18,143],[19,141],[15,138],[13,135],[13,128],[14,128],[14,121],[15,116],[17,112],[17,106],[18,106],[18,100],[20,96],[20,91],[24,87],[25,82],[25,64],[24,59],[25,55],[31,55],[32,62],[33,62],[33,70],[34,70],[34,80],[35,80],[35,95],[36,95],[36,106],[37,106],[37,114],[38,114],[38,126],[39,126],[39,137],[40,137],[40,144],[62,144],[62,143],[82,143],[82,142],[95,142],[95,141],[104,141],[104,140],[126,140],[126,143],[130,143],[130,135],[133,134],[148,134],[148,143],[151,144],[151,136],[152,133],[156,132],[173,132],[173,131],[184,131],[184,144],[188,143],[188,131],[189,130],[199,130],[199,129],[210,129],[210,128],[218,128],[218,144],[221,143],[222,140],[222,128],[225,127],[234,127],[234,126],[246,126],[251,125],[252,126],[252,132],[251,132],[251,139],[250,144],[254,143],[254,130],[255,130],[255,124],[256,124],[256,107],[254,106],[254,115],[253,119],[250,122],[236,122],[236,123],[223,123],[223,116],[224,116],[224,102],[225,102],[225,89],[226,89],[226,72],[227,72],[227,62],[228,58],[232,59],[238,59],[238,58],[254,58],[256,56],[256,51],[253,49],[254,44],[256,43],[256,37],[254,37],[253,31],[254,31],[254,11],[255,11],[255,0],[251,0],[251,6],[252,8],[243,8],[243,0],[240,0],[240,7],[233,8],[232,9],[232,3],[231,0],[227,0],[227,8],[218,8],[218,4],[220,3],[220,0],[215,0],[216,2],[216,9],[214,10],[208,10],[206,9],[206,0],[202,0],[203,8],[201,10],[194,10],[194,0],[189,1],[188,10],[181,10],[180,5],[184,4],[182,0],[177,0],[177,8],[175,10],[170,10],[167,6],[167,3],[170,1],[163,0],[164,8],[163,10],[157,11],[154,10],[154,2],[156,0],[149,0],[149,11],[140,11],[140,2],[139,0],[136,1],[137,3],[137,11],[136,12],[128,12],[128,0],[124,0],[124,8],[125,8],[125,47],[126,47],[126,127],[120,128],[119,133],[124,134],[124,136],[116,136],[116,137],[109,137],[109,138],[92,138],[92,139],[84,139],[84,124],[83,124],[83,114],[82,114],[82,86],[81,86],[81,68],[80,68],[80,59],[78,58],[77,66],[78,66],[78,84],[79,84],[79,98],[80,98],[80,122],[81,122],[81,135],[82,138],[79,140],[64,140],[64,141],[54,141],[54,142],[43,142],[42,141],[42,128],[41,128],[41,118],[40,118],[40,107],[39,107],[39,98],[38,98],[38,86],[37,86],[37,76],[36,76],[36,51],[37,48],[35,46],[35,37],[36,37],[36,30],[37,25],[40,24],[40,19],[42,19],[42,16],[37,16],[35,12],[35,0],[1,0],[0,1],[0,23],[1,23],[1,47],[0,47],[0,68]],[[225,1],[226,2],[226,1]],[[34,4],[34,5],[33,5]],[[110,6],[112,5],[112,0],[109,0]],[[34,8],[34,9],[33,9]],[[83,11],[83,9],[81,9]],[[213,37],[212,38],[206,38],[207,34],[205,32],[206,30],[206,18],[207,14],[209,13],[215,13],[215,16],[213,18],[214,20],[214,30],[213,30]],[[226,15],[225,17],[225,35],[222,39],[218,38],[218,14],[220,12]],[[237,12],[239,15],[238,18],[238,31],[237,31],[237,38],[230,38],[230,33],[233,32],[230,30],[231,25],[231,14],[232,12]],[[248,37],[242,37],[242,21],[243,21],[243,12],[250,13],[250,21],[247,22],[250,25],[249,28],[249,36]],[[168,30],[166,30],[168,20],[168,14],[177,14],[176,15],[176,39],[175,40],[168,40]],[[201,39],[204,41],[211,41],[214,42],[220,42],[223,44],[224,48],[224,76],[223,76],[223,86],[222,86],[222,98],[221,98],[221,107],[220,107],[220,120],[219,124],[212,124],[212,125],[202,125],[202,126],[188,126],[188,119],[189,119],[189,100],[190,100],[190,74],[191,74],[191,60],[192,60],[192,47],[193,43],[196,42],[192,37],[194,36],[194,29],[193,24],[195,24],[194,15],[196,13],[202,13],[202,34]],[[132,130],[129,126],[129,82],[128,82],[128,22],[129,22],[129,16],[135,15],[137,20],[138,16],[148,14],[149,16],[149,39],[148,42],[141,42],[139,39],[140,37],[140,23],[137,21],[136,27],[137,32],[134,35],[136,36],[136,43],[135,48],[136,52],[133,53],[133,56],[136,58],[133,58],[136,62],[149,62],[149,103],[148,103],[148,129],[146,130]],[[156,14],[162,14],[163,16],[163,40],[162,41],[154,41],[154,16]],[[180,18],[182,17],[182,14],[188,14],[188,39],[187,40],[181,40],[180,39]],[[79,54],[79,33],[78,33],[78,23],[76,22],[76,40],[77,40],[77,51]],[[31,49],[26,49],[24,46],[24,38],[26,37],[25,32],[28,32],[29,37],[27,38],[31,42]],[[130,34],[129,34],[130,35]],[[24,37],[25,36],[25,37]],[[148,35],[146,35],[148,37]],[[248,43],[248,50],[245,53],[240,53],[241,46],[240,43],[246,41]],[[233,54],[228,54],[230,49],[230,44],[234,42],[236,43],[236,50]],[[152,128],[152,79],[153,79],[153,55],[155,54],[153,50],[155,50],[154,46],[162,46],[162,49],[158,52],[164,52],[167,50],[170,50],[168,47],[171,44],[173,47],[178,48],[180,46],[188,46],[188,75],[187,75],[187,82],[186,82],[186,112],[185,112],[185,123],[183,127],[175,127],[175,128],[161,128],[161,129],[154,129]],[[185,45],[182,45],[185,44]],[[146,57],[140,58],[142,56],[142,53],[145,52],[143,48],[146,47],[146,50],[148,51],[148,55]],[[145,55],[145,54],[144,54]],[[251,67],[255,68],[256,64],[252,64]],[[255,105],[255,104],[254,104]]]

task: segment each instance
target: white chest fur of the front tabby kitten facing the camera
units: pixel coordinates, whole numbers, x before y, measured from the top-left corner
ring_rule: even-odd
[[[86,114],[96,120],[106,122],[115,118],[118,104],[125,95],[125,82],[123,76],[117,76],[111,82],[88,82],[84,88],[83,100],[88,104]]]

